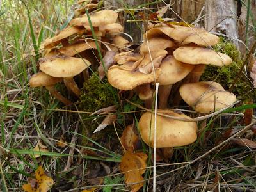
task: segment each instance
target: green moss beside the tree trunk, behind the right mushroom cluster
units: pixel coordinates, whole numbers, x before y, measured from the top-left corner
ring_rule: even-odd
[[[228,90],[234,79],[236,79],[239,68],[243,65],[241,54],[237,50],[236,45],[232,44],[232,42],[228,42],[224,38],[221,38],[220,43],[213,48],[215,51],[223,52],[230,56],[233,62],[231,65],[225,67],[207,65],[200,81],[216,81],[220,83],[225,90]],[[232,89],[232,93],[234,93],[237,96],[237,99],[242,102],[248,102],[249,100],[256,98],[256,91],[252,91],[251,83],[244,74],[239,77]]]

